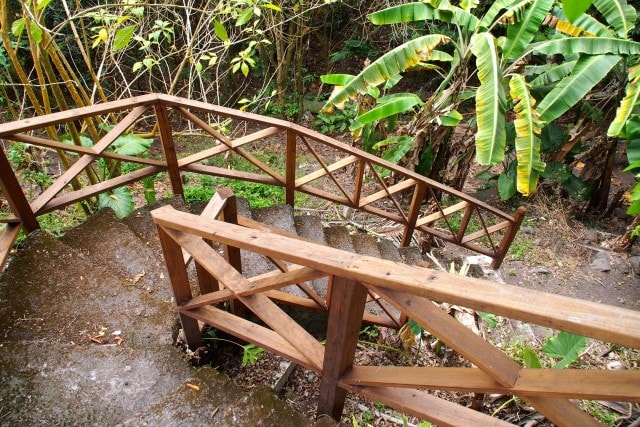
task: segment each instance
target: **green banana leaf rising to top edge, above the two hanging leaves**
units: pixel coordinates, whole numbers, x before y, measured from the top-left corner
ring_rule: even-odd
[[[524,10],[522,16],[516,16],[516,22],[507,27],[507,39],[502,49],[503,61],[516,59],[538,33],[540,24],[553,7],[554,0],[535,0]]]

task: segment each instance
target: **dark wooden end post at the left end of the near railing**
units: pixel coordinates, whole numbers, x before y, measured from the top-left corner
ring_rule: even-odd
[[[173,295],[176,298],[176,305],[179,306],[193,297],[191,294],[191,287],[189,286],[187,266],[184,264],[182,248],[167,235],[162,226],[157,225],[157,228],[160,243],[162,244],[164,262],[167,265],[169,278],[171,279]],[[189,316],[185,316],[184,314],[180,314],[180,323],[182,323],[182,330],[184,331],[184,336],[187,340],[187,346],[191,350],[195,350],[200,347],[202,344],[202,336],[198,321]]]

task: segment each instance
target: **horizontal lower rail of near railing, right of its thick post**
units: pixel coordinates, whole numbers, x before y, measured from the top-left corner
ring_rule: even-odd
[[[522,369],[513,387],[503,387],[477,368],[354,366],[342,376],[340,384],[640,401],[640,371],[637,370]]]

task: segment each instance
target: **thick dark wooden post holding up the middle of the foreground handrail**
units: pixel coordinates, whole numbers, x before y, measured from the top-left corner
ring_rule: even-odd
[[[342,277],[334,277],[332,282],[317,415],[330,415],[337,421],[347,397],[347,391],[338,386],[338,381],[353,364],[367,288]]]

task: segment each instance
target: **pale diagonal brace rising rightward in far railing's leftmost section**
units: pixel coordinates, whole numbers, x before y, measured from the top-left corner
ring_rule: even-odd
[[[80,172],[82,172],[92,161],[96,159],[104,150],[122,135],[129,127],[131,127],[142,114],[147,110],[146,106],[134,108],[127,116],[115,125],[105,136],[100,139],[94,146],[93,154],[85,154],[69,167],[62,175],[54,181],[40,196],[31,204],[33,212],[39,212],[51,199],[53,199],[64,187],[67,186]]]

